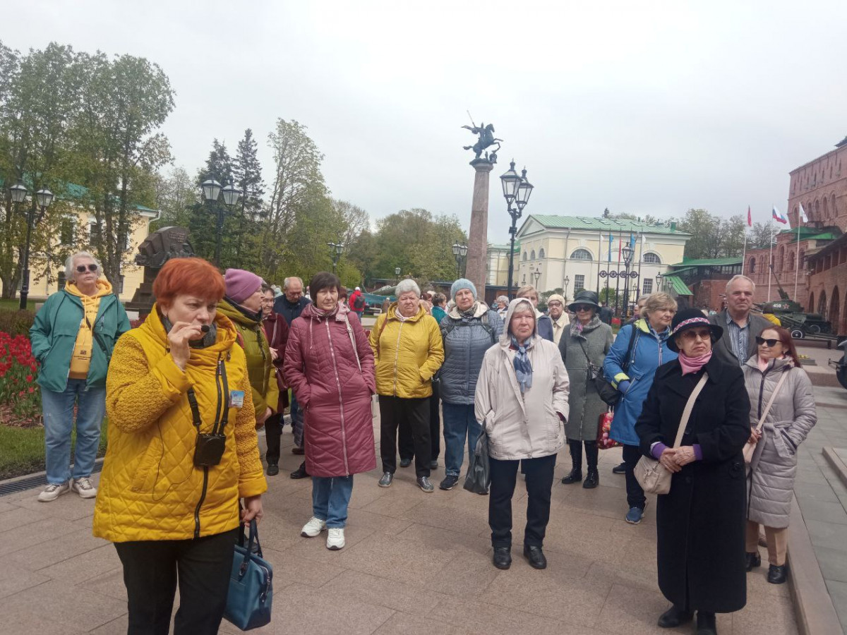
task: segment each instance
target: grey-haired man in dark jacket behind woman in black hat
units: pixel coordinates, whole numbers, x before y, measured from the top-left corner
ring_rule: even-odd
[[[750,312],[755,295],[756,284],[751,279],[734,276],[727,283],[727,308],[709,316],[709,322],[723,329],[712,349],[723,362],[744,366],[756,352],[756,337],[772,326],[764,317]]]

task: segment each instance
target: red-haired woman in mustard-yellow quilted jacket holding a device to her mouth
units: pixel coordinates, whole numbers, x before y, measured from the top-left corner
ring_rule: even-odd
[[[129,632],[167,633],[179,583],[174,632],[216,633],[239,521],[261,518],[267,489],[250,381],[217,269],[169,260],[153,294],[108,370],[94,535],[124,566]]]

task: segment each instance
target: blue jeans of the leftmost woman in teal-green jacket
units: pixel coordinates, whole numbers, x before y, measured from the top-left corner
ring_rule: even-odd
[[[76,450],[73,478],[88,478],[100,445],[100,425],[106,411],[106,388],[86,390],[85,379],[68,379],[62,393],[42,388],[44,462],[47,483],[67,483],[70,473],[70,431],[76,411]]]

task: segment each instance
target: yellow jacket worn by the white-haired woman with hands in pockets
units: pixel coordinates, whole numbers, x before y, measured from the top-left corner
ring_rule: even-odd
[[[376,363],[376,391],[404,399],[432,395],[432,376],[444,362],[444,344],[435,317],[421,306],[401,322],[397,303],[377,317],[370,332]]]

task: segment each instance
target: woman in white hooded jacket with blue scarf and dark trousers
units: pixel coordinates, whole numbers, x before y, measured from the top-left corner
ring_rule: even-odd
[[[520,462],[529,494],[523,555],[544,569],[553,468],[565,442],[567,370],[556,345],[538,335],[528,300],[509,303],[504,326],[500,342],[485,353],[474,400],[477,421],[489,436],[494,566],[512,565],[512,494]]]

